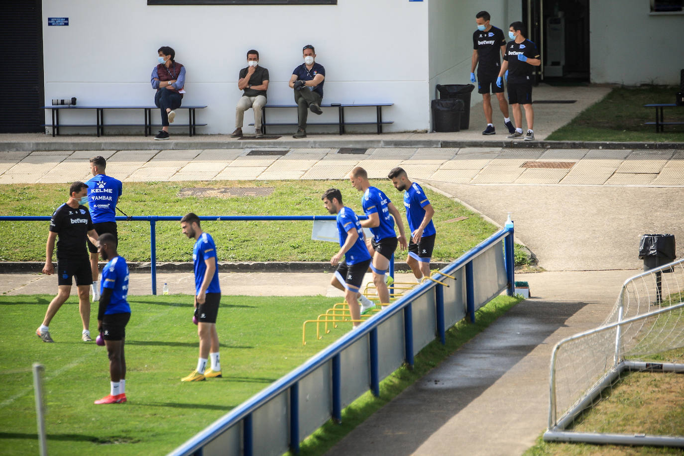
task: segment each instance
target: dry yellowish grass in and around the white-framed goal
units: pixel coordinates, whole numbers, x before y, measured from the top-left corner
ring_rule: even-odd
[[[684,362],[684,349],[661,353],[646,361]],[[603,392],[594,407],[575,420],[574,429],[599,433],[684,434],[684,375],[676,373],[625,373]],[[681,448],[654,446],[551,443],[538,438],[525,456],[547,455],[681,455]]]

